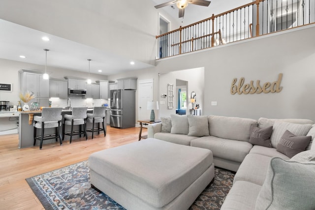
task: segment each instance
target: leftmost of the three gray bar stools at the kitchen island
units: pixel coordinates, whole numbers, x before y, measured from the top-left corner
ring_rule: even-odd
[[[60,145],[63,145],[63,139],[61,137],[60,133],[60,126],[61,126],[61,120],[63,119],[63,116],[61,115],[63,108],[43,108],[41,116],[34,116],[34,146],[36,144],[36,140],[40,140],[39,149],[42,149],[43,140],[47,139],[56,139],[56,142],[58,141],[58,138],[60,139]],[[41,129],[41,135],[37,136],[37,128]],[[52,135],[45,135],[44,136],[44,130],[45,128],[55,128],[55,134]]]

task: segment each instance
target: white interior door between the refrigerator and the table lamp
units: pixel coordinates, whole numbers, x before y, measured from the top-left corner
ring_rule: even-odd
[[[149,120],[151,110],[147,110],[147,102],[153,100],[153,79],[139,80],[139,120]],[[143,125],[143,127],[147,127]]]

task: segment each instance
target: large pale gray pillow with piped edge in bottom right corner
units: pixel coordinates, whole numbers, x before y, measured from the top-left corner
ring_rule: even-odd
[[[314,210],[315,162],[273,157],[255,210]]]

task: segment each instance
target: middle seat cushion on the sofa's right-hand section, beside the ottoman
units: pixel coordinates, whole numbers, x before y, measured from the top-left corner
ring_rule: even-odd
[[[237,170],[233,183],[243,180],[262,186],[272,157],[249,153]]]

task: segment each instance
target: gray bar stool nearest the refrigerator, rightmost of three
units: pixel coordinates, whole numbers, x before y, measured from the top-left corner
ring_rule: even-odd
[[[106,136],[106,127],[104,125],[106,116],[106,107],[100,106],[100,107],[94,107],[93,114],[88,113],[88,121],[92,122],[92,129],[89,129],[87,131],[92,132],[92,139],[94,137],[94,132],[97,131],[97,134],[99,134],[99,131],[104,131],[104,136]],[[103,128],[99,128],[99,123],[102,123]],[[94,124],[97,123],[97,128],[94,128]]]

